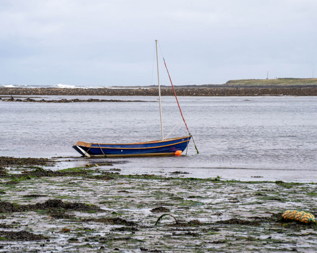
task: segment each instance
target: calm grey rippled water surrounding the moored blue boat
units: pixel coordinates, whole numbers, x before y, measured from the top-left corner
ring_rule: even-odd
[[[157,97],[44,98],[151,102],[0,102],[0,156],[79,156],[72,148],[78,140],[160,139]],[[190,142],[187,156],[112,158],[129,161],[117,168],[126,174],[170,175],[181,170],[191,177],[317,182],[317,97],[179,97],[179,102],[200,153]],[[166,136],[181,117],[174,97],[164,96],[162,108]],[[181,123],[171,137],[183,135]],[[84,163],[79,159],[73,165]]]

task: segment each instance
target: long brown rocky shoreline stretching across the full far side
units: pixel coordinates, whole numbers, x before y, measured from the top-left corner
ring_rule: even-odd
[[[284,87],[177,87],[178,96],[317,96],[316,86]],[[53,96],[157,96],[156,88],[149,89],[65,89],[65,88],[7,88],[0,87],[0,95],[53,95]],[[171,88],[161,88],[162,96],[173,96]]]

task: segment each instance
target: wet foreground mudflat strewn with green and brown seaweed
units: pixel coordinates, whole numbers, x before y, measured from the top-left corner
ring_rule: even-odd
[[[72,158],[64,158],[67,161]],[[56,159],[1,157],[0,251],[314,252],[316,183],[121,175],[99,159],[60,170]],[[89,163],[89,159],[87,160]],[[162,214],[161,222],[155,225]]]

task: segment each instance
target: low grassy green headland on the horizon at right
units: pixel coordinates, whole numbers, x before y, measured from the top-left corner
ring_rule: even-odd
[[[227,85],[266,86],[266,85],[317,85],[317,78],[277,78],[229,80]]]

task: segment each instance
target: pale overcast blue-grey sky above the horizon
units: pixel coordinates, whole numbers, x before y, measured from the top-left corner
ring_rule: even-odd
[[[316,0],[0,0],[0,85],[317,77]],[[162,52],[162,53],[161,53]],[[156,64],[156,63],[155,63]]]

